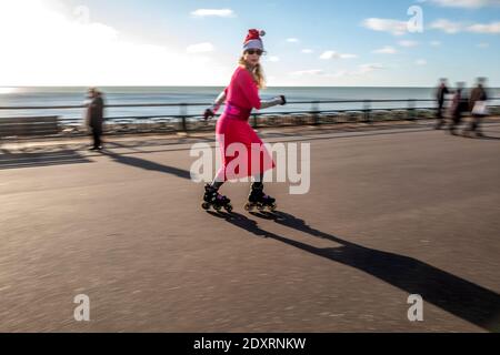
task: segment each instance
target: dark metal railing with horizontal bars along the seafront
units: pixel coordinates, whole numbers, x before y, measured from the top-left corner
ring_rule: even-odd
[[[449,100],[448,100],[449,101]],[[389,108],[374,108],[383,103],[391,103]],[[400,105],[398,105],[401,103]],[[424,105],[423,103],[429,103]],[[317,100],[317,101],[291,101],[292,106],[306,105],[302,110],[281,110],[272,112],[253,112],[250,123],[254,128],[260,126],[283,126],[283,125],[316,125],[316,124],[334,124],[349,122],[373,123],[376,121],[402,121],[432,119],[436,111],[434,100]],[[354,109],[334,109],[333,105],[359,104],[360,108]],[[420,105],[419,105],[420,104]],[[107,116],[107,132],[110,134],[124,133],[146,133],[146,132],[187,132],[203,131],[213,129],[214,121],[206,122],[202,120],[202,111],[210,106],[211,103],[127,103],[127,104],[107,104],[107,109],[140,109],[143,108],[179,108],[178,114],[133,114],[133,115],[114,115]],[[321,109],[321,105],[329,105],[329,109]],[[189,114],[191,108],[200,108],[200,113]],[[0,136],[9,136],[6,124],[16,118],[3,118],[2,112],[6,111],[66,111],[66,110],[83,110],[86,105],[31,105],[31,106],[0,106]],[[500,114],[500,98],[490,100],[490,109],[492,114]],[[221,108],[221,111],[223,109]],[[41,116],[40,114],[38,114]],[[49,115],[49,114],[48,114]],[[46,116],[48,116],[46,115]],[[36,116],[36,115],[34,115]],[[8,120],[7,120],[8,119]],[[17,118],[20,119],[20,118]],[[26,118],[24,118],[26,119]],[[33,119],[30,115],[28,119]],[[32,124],[33,120],[27,120],[27,124]],[[81,118],[63,118],[59,115],[59,133],[56,135],[81,135],[86,133],[83,120]],[[3,133],[2,133],[3,131]],[[31,134],[32,135],[32,134]],[[46,134],[41,134],[46,135]],[[53,136],[53,134],[51,135]]]

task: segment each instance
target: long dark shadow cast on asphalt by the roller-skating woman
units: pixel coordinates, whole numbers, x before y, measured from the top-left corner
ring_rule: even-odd
[[[216,213],[213,213],[216,214]],[[378,251],[318,231],[293,215],[253,213],[309,235],[332,241],[341,246],[316,247],[264,231],[244,215],[220,213],[229,223],[258,236],[272,239],[308,253],[342,263],[373,275],[408,294],[419,294],[429,302],[464,321],[490,332],[500,332],[500,295],[467,280],[447,273],[419,260]]]

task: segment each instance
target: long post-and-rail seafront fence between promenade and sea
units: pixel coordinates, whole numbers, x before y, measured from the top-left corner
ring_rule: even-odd
[[[389,106],[390,103],[390,106]],[[416,121],[433,119],[436,116],[436,101],[433,100],[320,100],[292,101],[293,109],[276,112],[252,112],[250,123],[253,128],[262,126],[293,126],[340,123],[367,123],[382,121]],[[383,108],[383,104],[388,104]],[[216,120],[204,121],[202,112],[211,103],[131,103],[108,104],[107,109],[133,109],[137,114],[110,115],[106,118],[107,134],[138,134],[138,133],[177,133],[210,131],[214,129]],[[328,105],[328,109],[324,109]],[[342,109],[336,109],[336,105]],[[358,106],[346,109],[347,105]],[[64,115],[40,115],[40,112],[59,112],[81,110],[84,105],[51,105],[51,106],[0,106],[0,138],[24,139],[32,136],[79,136],[87,134],[82,118],[67,118]],[[159,109],[178,108],[176,114],[158,114]],[[323,109],[322,109],[323,108]],[[154,109],[154,114],[141,113],[141,110]],[[198,110],[199,109],[199,110]],[[189,114],[189,110],[199,111]],[[489,101],[491,115],[500,115],[500,98]],[[8,116],[3,112],[37,112],[26,116]],[[221,108],[220,112],[223,112]]]

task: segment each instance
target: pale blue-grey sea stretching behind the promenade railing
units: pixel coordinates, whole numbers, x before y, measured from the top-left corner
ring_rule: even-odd
[[[203,106],[189,106],[190,103],[211,103],[223,90],[222,87],[112,87],[98,88],[102,93],[106,104],[188,104],[187,114],[201,114]],[[500,89],[488,89],[490,97],[500,98]],[[262,99],[271,99],[277,95],[286,95],[290,104],[274,106],[266,112],[292,112],[320,110],[361,110],[367,100],[433,100],[434,88],[267,88],[260,92]],[[0,88],[0,120],[2,118],[58,115],[61,121],[80,122],[83,118],[83,109],[53,109],[51,106],[82,105],[87,100],[87,88]],[[311,103],[329,100],[358,100],[360,102],[348,103],[320,103],[316,108]],[[494,101],[500,105],[500,100]],[[16,109],[10,108],[27,108]],[[34,109],[29,109],[33,108]],[[407,102],[380,102],[371,103],[372,109],[404,109]],[[416,108],[433,108],[434,103],[417,102]],[[112,118],[140,118],[166,116],[180,114],[180,106],[128,106],[107,108],[106,116]]]

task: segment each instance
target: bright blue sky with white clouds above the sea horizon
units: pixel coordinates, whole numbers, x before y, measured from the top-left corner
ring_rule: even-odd
[[[1,0],[0,89],[227,85],[251,28],[270,87],[500,87],[500,0]]]

